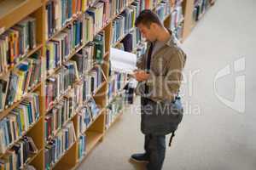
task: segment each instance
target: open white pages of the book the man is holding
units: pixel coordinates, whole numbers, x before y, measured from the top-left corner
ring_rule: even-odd
[[[117,48],[110,48],[111,70],[132,74],[137,69],[137,55]]]

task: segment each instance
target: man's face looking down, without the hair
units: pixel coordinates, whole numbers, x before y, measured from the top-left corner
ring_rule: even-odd
[[[143,24],[139,24],[137,28],[142,33],[142,36],[146,38],[147,41],[154,42],[156,40],[156,30],[154,28],[154,23],[151,24],[149,27]]]

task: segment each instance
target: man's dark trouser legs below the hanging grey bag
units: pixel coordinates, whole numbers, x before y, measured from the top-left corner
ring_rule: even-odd
[[[161,170],[166,156],[166,136],[146,134],[144,149],[149,158],[147,170]]]

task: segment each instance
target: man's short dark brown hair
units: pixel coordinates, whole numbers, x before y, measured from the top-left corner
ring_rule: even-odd
[[[144,26],[149,27],[152,23],[162,26],[162,23],[158,15],[149,9],[144,9],[135,20],[135,26],[143,24]]]

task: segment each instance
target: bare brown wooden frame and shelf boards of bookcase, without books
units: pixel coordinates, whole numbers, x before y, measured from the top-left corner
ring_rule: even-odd
[[[44,133],[45,133],[45,116],[47,115],[48,111],[53,108],[55,104],[58,104],[60,100],[66,95],[69,94],[73,89],[68,88],[66,93],[61,94],[57,97],[54,104],[49,106],[49,108],[45,105],[46,100],[46,80],[54,76],[57,71],[60,70],[61,66],[55,68],[53,71],[50,71],[49,73],[46,71],[46,44],[53,40],[54,37],[56,37],[58,34],[60,34],[61,31],[64,31],[67,26],[71,25],[74,20],[79,19],[83,14],[81,12],[78,12],[77,14],[73,14],[72,18],[67,21],[67,23],[61,27],[61,29],[55,31],[52,36],[49,38],[45,36],[46,32],[46,5],[49,3],[49,0],[0,0],[0,35],[7,31],[12,26],[15,26],[16,23],[20,22],[20,20],[25,19],[27,16],[32,16],[36,19],[36,42],[37,45],[35,48],[30,50],[27,54],[24,55],[23,58],[21,58],[18,62],[15,63],[15,65],[12,65],[9,67],[9,69],[6,72],[0,72],[0,77],[3,77],[8,72],[11,72],[14,70],[14,68],[19,65],[21,62],[23,62],[25,59],[29,58],[32,54],[40,52],[40,59],[42,60],[42,77],[41,82],[39,82],[37,85],[33,86],[32,89],[28,90],[28,93],[24,94],[22,99],[19,101],[15,101],[13,105],[10,105],[9,108],[6,108],[4,111],[0,112],[0,120],[2,120],[5,116],[9,115],[9,112],[15,109],[17,105],[19,105],[23,99],[27,97],[28,94],[31,94],[32,92],[37,92],[39,94],[39,104],[40,104],[40,117],[37,122],[33,123],[32,126],[29,127],[29,129],[22,133],[22,135],[28,135],[31,136],[34,140],[35,144],[38,147],[38,152],[35,153],[28,161],[26,161],[26,165],[32,165],[36,167],[39,170],[44,170],[44,162],[45,162],[45,146],[47,144],[47,141],[45,141]],[[128,3],[128,6],[133,3],[133,0],[130,0]],[[91,6],[90,4],[89,6]],[[183,29],[183,38],[188,37],[189,32],[191,31],[191,16],[193,14],[193,6],[194,0],[183,0],[183,12],[184,12],[184,19],[182,22],[184,22],[184,29]],[[128,6],[125,6],[124,8],[119,9],[119,14],[125,11],[125,8]],[[89,7],[87,7],[89,8]],[[87,9],[86,8],[86,9]],[[152,10],[155,10],[156,7],[152,8]],[[131,31],[135,30],[135,28],[131,28],[130,31],[128,31],[125,35],[122,37],[119,37],[117,42],[112,42],[112,33],[113,33],[113,20],[115,20],[119,14],[114,14],[111,16],[108,21],[102,26],[102,28],[96,32],[98,34],[101,31],[105,32],[105,51],[103,54],[103,59],[106,63],[109,61],[109,55],[110,55],[110,48],[116,47],[119,45],[119,43],[128,35],[128,33],[131,33]],[[172,22],[172,14],[167,14],[164,17],[163,23],[164,26],[169,27]],[[95,36],[95,35],[94,35]],[[73,55],[77,54],[84,46],[86,46],[88,42],[81,43],[78,47],[74,48],[71,54],[68,55],[67,59],[64,60],[62,64],[65,64],[67,61],[73,58]],[[137,46],[141,44],[140,42],[137,44]],[[136,50],[133,51],[136,53]],[[94,65],[97,66],[97,65]],[[50,169],[76,169],[79,167],[79,165],[86,159],[86,157],[92,152],[92,150],[96,147],[99,142],[101,142],[106,135],[106,129],[105,123],[106,123],[106,115],[107,115],[107,105],[109,102],[107,99],[108,95],[108,82],[113,79],[113,77],[108,76],[108,70],[109,65],[103,64],[102,65],[102,83],[96,88],[94,93],[91,94],[91,97],[95,99],[96,104],[99,106],[101,111],[99,114],[92,120],[90,123],[90,126],[86,128],[84,131],[84,134],[86,134],[86,154],[79,159],[78,156],[78,148],[79,148],[79,109],[74,109],[73,116],[71,116],[67,122],[73,122],[74,125],[74,131],[76,140],[73,144],[71,144],[68,147],[68,150],[64,151],[64,153],[60,156],[60,159],[55,162],[54,165],[50,167]],[[88,71],[90,72],[90,71]],[[73,85],[77,85],[81,82],[81,80],[77,80],[74,82]],[[122,87],[121,89],[123,89]],[[99,94],[99,95],[98,95]],[[117,95],[119,95],[119,92],[116,92],[113,94],[112,99],[114,99]],[[83,103],[83,105],[86,105],[86,101]],[[109,126],[112,127],[114,122],[119,120],[119,117],[122,116],[124,110],[121,110],[119,115],[115,117],[113,123]],[[67,124],[65,122],[63,126]],[[62,126],[62,127],[63,127]],[[52,136],[55,137],[55,135],[60,132],[61,129],[56,130],[55,134]],[[17,142],[17,141],[15,141]],[[12,145],[9,146],[9,148]],[[0,158],[4,154],[0,155]],[[26,166],[25,165],[25,166]]]

